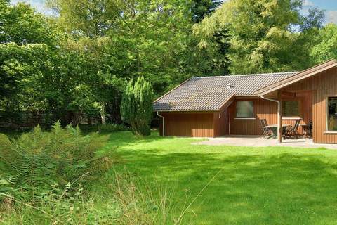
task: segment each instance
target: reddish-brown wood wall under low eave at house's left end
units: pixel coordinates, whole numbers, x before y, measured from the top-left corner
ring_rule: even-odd
[[[161,113],[165,117],[165,136],[213,137],[214,114]]]

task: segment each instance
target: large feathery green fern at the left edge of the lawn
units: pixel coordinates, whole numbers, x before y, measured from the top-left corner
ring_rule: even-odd
[[[107,136],[83,135],[60,122],[50,132],[33,131],[18,139],[0,134],[0,192],[33,197],[54,184],[65,186],[93,179],[111,165],[109,155],[98,155]]]

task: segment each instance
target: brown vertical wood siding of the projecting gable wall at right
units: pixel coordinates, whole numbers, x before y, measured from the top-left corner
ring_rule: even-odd
[[[313,140],[315,143],[337,143],[337,134],[324,134],[326,131],[326,98],[337,96],[336,68],[291,84],[281,91],[312,91]]]

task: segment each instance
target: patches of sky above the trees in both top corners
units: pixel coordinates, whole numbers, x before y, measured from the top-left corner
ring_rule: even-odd
[[[46,0],[11,0],[11,3],[16,4],[19,1],[31,4],[34,8],[37,8],[38,11],[46,15],[51,13],[44,5]],[[325,23],[337,24],[337,0],[304,0],[303,13],[306,13],[310,7],[324,9],[326,14]]]

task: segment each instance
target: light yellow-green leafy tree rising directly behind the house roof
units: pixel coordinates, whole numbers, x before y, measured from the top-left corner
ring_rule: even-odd
[[[234,74],[301,70],[308,68],[310,58],[296,27],[308,30],[322,23],[320,11],[311,11],[312,20],[304,20],[302,4],[301,0],[226,1],[194,26],[194,34],[201,37],[201,48],[214,49],[219,46],[214,34],[227,30],[227,57]]]

